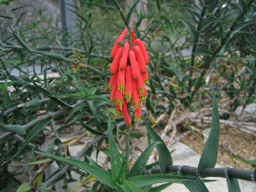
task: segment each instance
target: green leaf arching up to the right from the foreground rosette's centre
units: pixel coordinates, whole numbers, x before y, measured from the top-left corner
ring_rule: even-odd
[[[140,157],[137,159],[137,161],[134,163],[134,165],[132,166],[132,169],[130,170],[130,172],[127,174],[127,178],[130,177],[134,177],[137,175],[141,175],[142,172],[145,170],[145,166],[146,163],[148,161],[148,158],[151,154],[151,151],[158,145],[158,144],[162,144],[161,142],[157,141],[157,142],[153,142],[151,143],[150,146],[147,147],[147,149],[145,149],[142,154],[140,155]]]

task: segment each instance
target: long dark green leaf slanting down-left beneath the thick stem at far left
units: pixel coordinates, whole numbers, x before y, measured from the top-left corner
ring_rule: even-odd
[[[48,125],[50,122],[52,121],[52,119],[45,119],[42,122],[38,123],[36,126],[33,127],[33,129],[31,129],[29,131],[29,133],[27,134],[26,140],[22,143],[21,147],[18,149],[18,151],[11,157],[9,158],[6,162],[11,161],[13,158],[19,156],[21,154],[21,152],[26,148],[26,146],[28,145],[28,143],[33,140],[36,135],[42,131],[42,129],[44,129],[44,127],[46,125]]]

